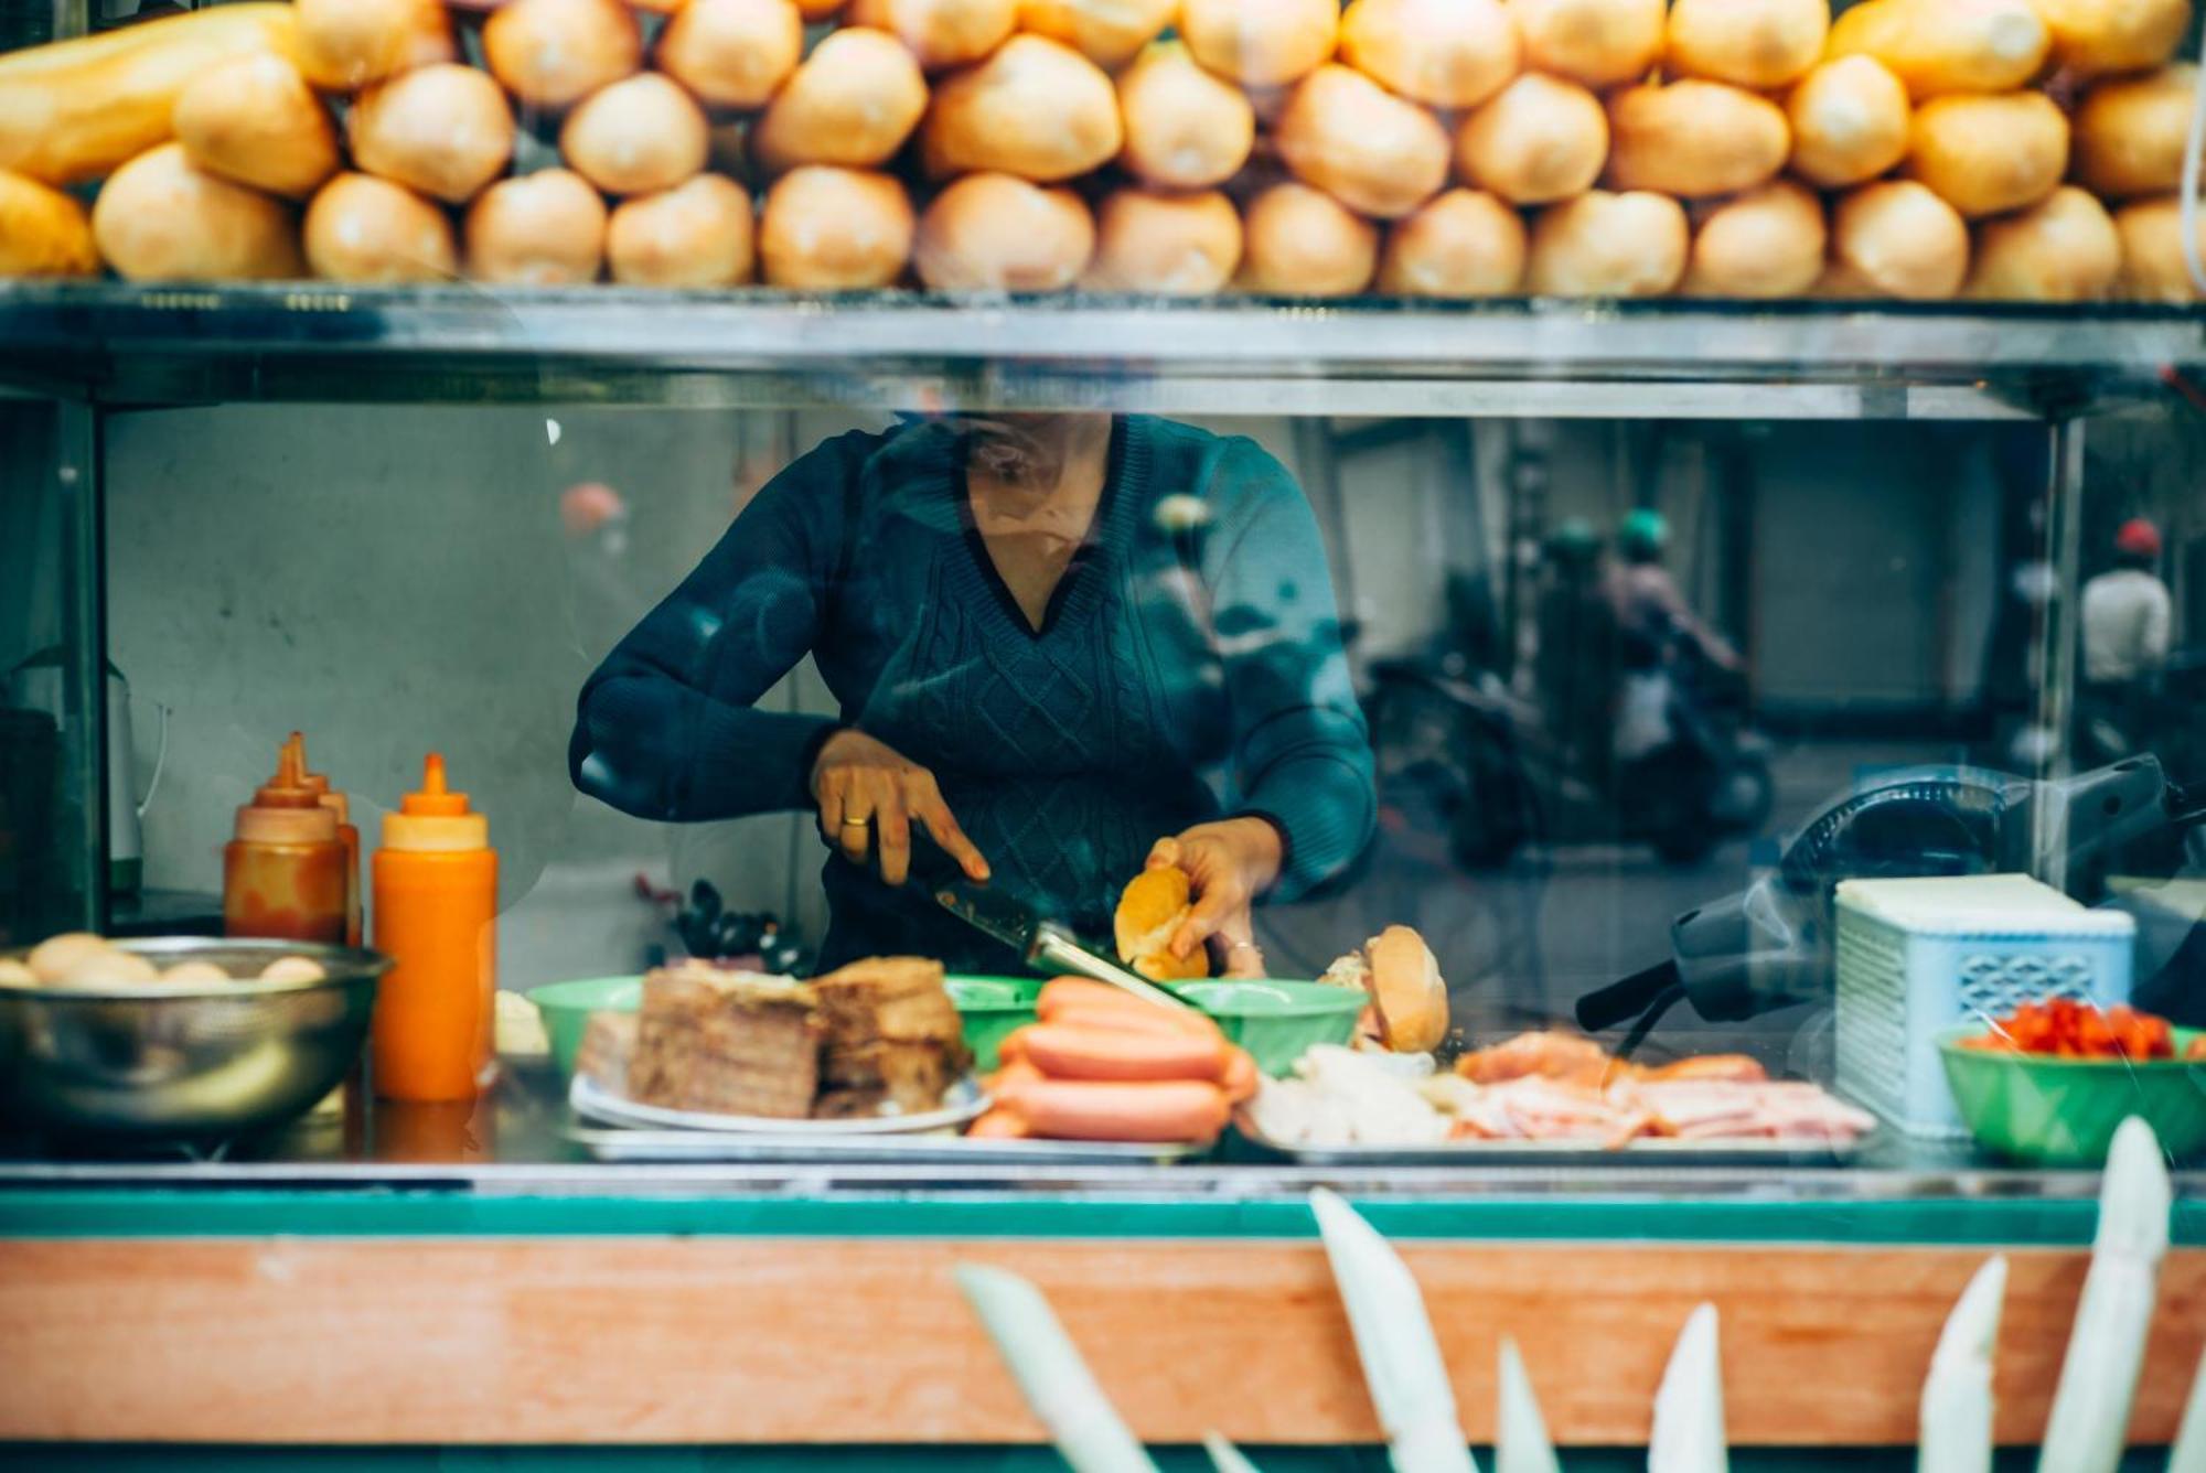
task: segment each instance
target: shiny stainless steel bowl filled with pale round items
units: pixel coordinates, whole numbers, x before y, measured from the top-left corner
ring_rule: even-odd
[[[390,959],[309,942],[117,942],[154,966],[212,961],[205,988],[0,988],[0,1098],[60,1133],[225,1138],[285,1125],[335,1089],[368,1036]],[[13,953],[22,955],[22,953]],[[313,957],[320,981],[258,981]]]

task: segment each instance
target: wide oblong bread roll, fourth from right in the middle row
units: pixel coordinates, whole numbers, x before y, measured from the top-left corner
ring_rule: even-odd
[[[1738,194],[1778,176],[1791,126],[1767,97],[1723,82],[1632,86],[1608,99],[1608,187],[1683,198]]]

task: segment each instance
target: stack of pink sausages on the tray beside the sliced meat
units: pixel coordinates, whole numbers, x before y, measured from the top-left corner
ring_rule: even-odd
[[[1200,1012],[1074,977],[1046,986],[1035,1012],[1004,1041],[971,1136],[1209,1142],[1255,1094],[1255,1061]]]

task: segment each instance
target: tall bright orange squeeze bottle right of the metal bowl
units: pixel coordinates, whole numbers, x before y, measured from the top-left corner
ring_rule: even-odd
[[[393,961],[375,997],[375,1094],[472,1100],[494,1047],[499,856],[435,752],[421,792],[384,814],[373,882],[375,950]]]

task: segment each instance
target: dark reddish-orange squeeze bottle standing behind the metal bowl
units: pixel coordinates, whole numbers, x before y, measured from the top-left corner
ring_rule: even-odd
[[[223,935],[344,944],[344,840],[291,734],[223,845]]]

